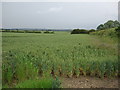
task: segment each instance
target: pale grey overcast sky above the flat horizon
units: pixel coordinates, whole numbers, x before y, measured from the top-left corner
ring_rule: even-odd
[[[3,2],[4,28],[96,28],[118,20],[117,2]]]

